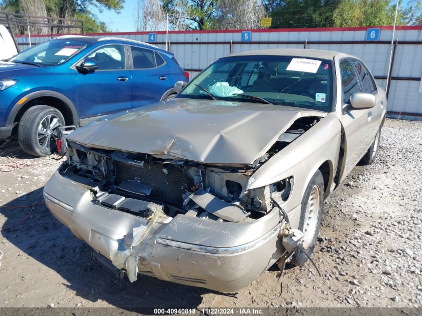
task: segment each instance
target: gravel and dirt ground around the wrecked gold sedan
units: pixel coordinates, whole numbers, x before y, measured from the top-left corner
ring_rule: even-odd
[[[0,143],[0,167],[28,165],[0,171],[0,205],[30,205],[59,161],[30,158],[13,141]],[[313,255],[322,277],[309,262],[280,278],[272,267],[237,294],[118,281],[45,205],[21,223],[28,208],[0,208],[0,307],[421,307],[421,179],[422,122],[387,120],[375,163],[326,201]]]

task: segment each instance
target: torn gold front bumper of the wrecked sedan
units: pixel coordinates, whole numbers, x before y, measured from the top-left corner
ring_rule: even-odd
[[[280,238],[284,222],[276,223],[261,237],[246,244],[239,241],[239,245],[232,243],[230,247],[210,247],[205,241],[218,232],[209,228],[223,222],[208,220],[212,222],[208,227],[198,230],[195,224],[190,230],[189,218],[177,215],[151,225],[145,218],[98,205],[92,198],[89,188],[58,171],[44,187],[45,203],[54,217],[93,251],[126,271],[129,279],[134,273],[145,274],[169,282],[234,292],[256,280],[284,252]],[[177,226],[181,223],[186,225]],[[133,246],[139,227],[149,229],[141,242]],[[186,230],[191,241],[179,241],[167,235],[169,227],[173,231]],[[198,231],[201,236],[197,235]],[[227,239],[232,238],[230,232],[226,234]]]

